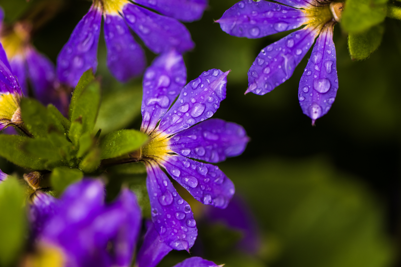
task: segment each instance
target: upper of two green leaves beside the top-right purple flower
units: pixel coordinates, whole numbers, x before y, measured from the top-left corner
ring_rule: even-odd
[[[342,12],[341,27],[348,32],[363,32],[383,22],[387,0],[347,0]]]

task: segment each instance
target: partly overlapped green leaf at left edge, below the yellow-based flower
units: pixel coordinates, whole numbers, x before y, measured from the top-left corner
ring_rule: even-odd
[[[38,158],[22,149],[22,146],[30,138],[16,135],[0,135],[0,156],[10,162],[32,170],[45,170],[46,159]]]

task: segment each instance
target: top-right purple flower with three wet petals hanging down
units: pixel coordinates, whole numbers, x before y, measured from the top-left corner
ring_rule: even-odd
[[[333,26],[340,20],[342,4],[312,0],[243,0],[217,20],[230,35],[261,38],[306,26],[263,48],[248,71],[248,89],[264,95],[288,80],[317,36],[312,56],[301,77],[298,99],[304,114],[312,119],[325,115],[338,89]]]

